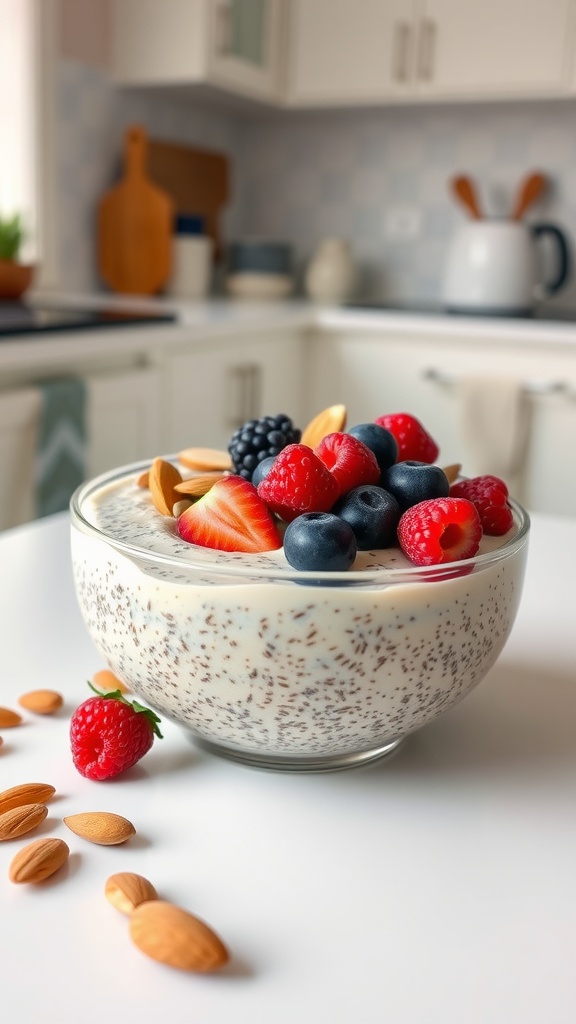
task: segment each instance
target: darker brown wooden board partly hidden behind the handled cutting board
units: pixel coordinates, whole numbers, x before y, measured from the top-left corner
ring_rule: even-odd
[[[214,258],[222,253],[220,215],[230,197],[230,160],[223,153],[151,139],[148,169],[171,197],[177,213],[199,214],[214,243]]]

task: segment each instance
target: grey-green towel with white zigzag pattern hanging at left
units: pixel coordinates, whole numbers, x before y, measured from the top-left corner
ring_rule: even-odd
[[[36,515],[68,509],[86,475],[86,385],[78,377],[42,381],[36,460]]]

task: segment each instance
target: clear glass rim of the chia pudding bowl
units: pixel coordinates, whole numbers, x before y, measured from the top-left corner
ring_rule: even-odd
[[[177,455],[163,456],[166,461],[177,462]],[[453,579],[455,575],[465,579],[470,572],[485,569],[494,565],[511,554],[519,551],[527,542],[530,531],[530,516],[527,510],[515,499],[508,498],[512,509],[515,520],[518,524],[517,532],[504,544],[493,548],[482,554],[472,555],[471,558],[463,558],[459,561],[443,562],[435,565],[409,565],[400,567],[379,566],[376,568],[347,569],[341,572],[330,571],[303,571],[295,569],[289,564],[278,564],[270,567],[257,565],[249,566],[238,564],[231,557],[234,553],[228,551],[217,551],[213,548],[201,548],[190,544],[191,557],[183,558],[166,552],[154,551],[138,544],[128,543],[119,538],[112,537],[106,530],[100,529],[86,518],[82,511],[84,502],[95,494],[100,487],[109,486],[124,478],[138,476],[150,469],[151,459],[139,462],[128,463],[115,467],[105,473],[91,477],[81,483],[70,499],[71,525],[86,534],[93,540],[98,540],[114,548],[118,552],[126,555],[132,561],[143,562],[148,566],[156,564],[167,568],[177,569],[179,572],[187,570],[203,571],[205,574],[214,577],[239,578],[247,583],[260,581],[274,581],[277,583],[324,583],[331,586],[389,586],[393,584],[421,583],[424,580],[439,582],[441,580]],[[198,556],[194,557],[194,552]],[[210,554],[202,557],[203,552]],[[241,553],[243,558],[249,557],[246,553]],[[265,554],[265,552],[264,552]],[[259,557],[259,556],[257,556]],[[178,583],[181,581],[178,581]]]

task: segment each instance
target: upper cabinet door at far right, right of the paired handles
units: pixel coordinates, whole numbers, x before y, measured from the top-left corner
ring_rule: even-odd
[[[572,59],[572,0],[421,0],[417,89],[437,95],[559,92]]]

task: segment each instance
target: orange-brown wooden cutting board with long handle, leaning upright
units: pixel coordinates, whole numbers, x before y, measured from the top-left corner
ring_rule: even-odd
[[[97,213],[98,269],[115,292],[154,295],[170,275],[174,207],[147,175],[148,138],[132,125],[124,138],[124,175]]]

